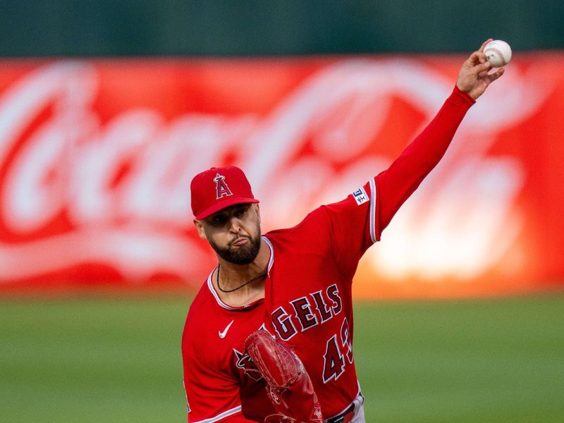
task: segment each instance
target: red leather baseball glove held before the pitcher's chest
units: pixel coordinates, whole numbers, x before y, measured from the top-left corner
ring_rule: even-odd
[[[245,340],[245,352],[266,381],[266,391],[278,413],[267,422],[323,422],[312,381],[293,350],[259,329]]]

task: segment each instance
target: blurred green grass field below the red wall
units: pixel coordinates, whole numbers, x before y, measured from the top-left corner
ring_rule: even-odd
[[[188,299],[0,302],[0,422],[185,422]],[[358,302],[367,422],[564,422],[564,295]]]

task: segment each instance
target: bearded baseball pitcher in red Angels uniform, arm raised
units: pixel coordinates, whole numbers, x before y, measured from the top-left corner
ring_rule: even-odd
[[[293,228],[262,235],[259,201],[234,166],[190,185],[194,223],[216,252],[183,333],[188,422],[364,422],[353,354],[351,286],[364,252],[446,152],[503,68],[483,50],[450,97],[378,176]]]

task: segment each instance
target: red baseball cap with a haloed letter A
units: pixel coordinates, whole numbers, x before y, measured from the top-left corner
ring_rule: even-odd
[[[235,166],[210,168],[198,173],[190,183],[192,213],[196,219],[219,212],[233,204],[257,203],[243,171]]]

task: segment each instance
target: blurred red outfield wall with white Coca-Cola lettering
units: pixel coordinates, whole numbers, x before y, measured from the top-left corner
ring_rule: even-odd
[[[358,295],[564,280],[564,54],[515,56],[364,257]],[[291,226],[386,168],[463,59],[0,61],[0,293],[199,286],[214,256],[195,173],[237,164],[264,230]]]

